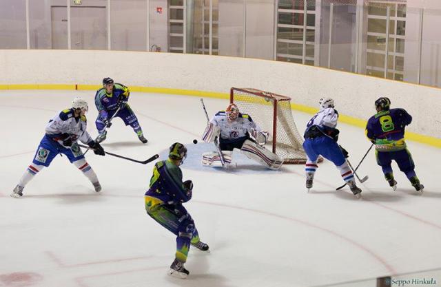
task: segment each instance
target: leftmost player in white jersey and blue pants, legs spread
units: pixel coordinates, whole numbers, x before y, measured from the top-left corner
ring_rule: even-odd
[[[92,182],[96,192],[101,191],[101,185],[92,167],[85,161],[83,152],[77,145],[77,141],[85,143],[94,149],[95,154],[104,156],[104,149],[98,142],[94,142],[90,137],[87,128],[85,112],[88,111],[88,103],[81,99],[75,98],[72,108],[60,111],[49,121],[45,128],[45,136],[41,139],[40,145],[35,153],[34,160],[21,177],[19,184],[12,191],[13,198],[23,196],[23,189],[34,176],[43,169],[49,167],[50,162],[59,153],[63,153],[68,157],[79,170]]]

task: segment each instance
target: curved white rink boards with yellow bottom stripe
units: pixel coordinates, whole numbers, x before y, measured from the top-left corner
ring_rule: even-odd
[[[413,116],[408,138],[441,147],[441,89],[279,61],[228,56],[91,50],[0,50],[0,89],[95,89],[110,76],[132,91],[227,98],[230,87],[290,96],[314,112],[334,98],[345,123],[363,127],[376,98]]]

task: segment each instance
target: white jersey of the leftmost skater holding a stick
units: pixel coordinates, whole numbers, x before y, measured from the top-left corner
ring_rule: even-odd
[[[61,136],[61,134],[70,134],[72,142],[81,140],[81,142],[87,144],[92,141],[90,134],[86,131],[87,127],[88,123],[85,116],[75,118],[73,109],[64,109],[49,121],[45,132],[50,138],[57,138],[57,135]],[[62,140],[57,140],[57,142],[63,144]]]

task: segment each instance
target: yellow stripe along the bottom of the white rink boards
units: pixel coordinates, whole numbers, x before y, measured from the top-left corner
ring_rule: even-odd
[[[97,90],[101,88],[101,85],[50,85],[50,84],[11,84],[11,85],[1,85],[0,89],[78,89],[78,90]],[[197,91],[193,89],[172,89],[165,87],[140,87],[140,86],[130,86],[130,91],[132,92],[143,92],[143,93],[155,93],[155,94],[174,94],[183,96],[203,96],[205,98],[225,98],[229,99],[229,93],[218,93],[218,92],[205,92]],[[291,109],[296,111],[303,111],[308,114],[315,114],[318,109],[314,107],[308,107],[305,105],[299,105],[296,103],[291,103]],[[367,121],[360,120],[360,118],[353,118],[351,116],[340,115],[339,120],[341,123],[346,123],[349,125],[354,125],[356,127],[361,127],[365,129]],[[433,136],[424,136],[422,134],[416,134],[407,131],[406,139],[414,140],[416,142],[421,142],[426,145],[431,145],[433,147],[441,148],[441,139],[435,138]]]

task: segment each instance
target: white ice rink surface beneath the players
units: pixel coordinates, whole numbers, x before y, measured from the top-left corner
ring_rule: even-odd
[[[46,123],[75,96],[89,102],[94,138],[94,91],[0,92],[0,286],[319,286],[441,268],[440,149],[408,142],[423,195],[396,164],[398,189],[392,191],[373,151],[359,169],[360,177],[369,175],[361,200],[349,189],[336,191],[343,182],[328,161],[307,193],[302,165],[269,171],[243,160],[232,171],[201,167],[201,153],[212,145],[192,143],[206,123],[199,99],[132,92],[130,106],[149,142],[143,145],[115,118],[104,149],[145,160],[154,153],[164,158],[173,142],[187,145],[182,169],[194,192],[185,206],[212,251],[190,250],[189,277],[172,278],[166,273],[175,237],[144,209],[153,163],[88,153],[103,186],[95,193],[81,171],[57,156],[23,198],[10,198]],[[227,100],[207,98],[205,105],[212,115]],[[363,108],[375,113],[373,106]],[[311,115],[293,114],[302,134]],[[357,164],[370,146],[364,130],[339,129],[339,143]]]

